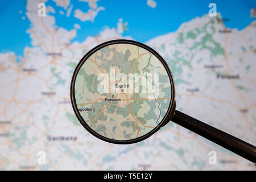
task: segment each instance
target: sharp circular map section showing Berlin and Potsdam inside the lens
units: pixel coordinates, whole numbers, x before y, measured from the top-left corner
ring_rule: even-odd
[[[130,140],[162,121],[171,101],[171,83],[162,62],[133,44],[94,52],[75,80],[75,100],[84,121],[98,134]]]

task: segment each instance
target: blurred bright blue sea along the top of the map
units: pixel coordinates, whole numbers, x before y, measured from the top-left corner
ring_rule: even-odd
[[[242,30],[255,20],[250,17],[250,9],[256,8],[256,1],[253,0],[155,0],[157,3],[155,8],[147,6],[146,2],[147,0],[98,1],[98,7],[103,6],[105,10],[98,13],[94,22],[81,22],[73,16],[76,9],[80,9],[84,13],[90,9],[86,2],[72,0],[73,9],[69,17],[66,15],[67,10],[56,6],[52,0],[48,0],[46,6],[52,6],[55,9],[55,14],[50,13],[49,15],[55,16],[56,26],[64,27],[67,30],[74,28],[75,23],[81,26],[72,42],[82,42],[87,36],[98,35],[106,26],[116,27],[119,18],[122,18],[123,22],[128,22],[128,30],[123,35],[131,36],[139,42],[146,42],[156,36],[176,31],[181,23],[188,22],[196,16],[208,14],[210,9],[208,5],[212,2],[216,3],[217,12],[221,13],[222,18],[229,19],[224,22],[226,27]],[[60,11],[63,11],[64,15],[61,15]],[[31,27],[26,16],[26,1],[2,0],[0,23],[0,53],[13,51],[17,56],[23,56],[24,47],[31,47],[30,35],[26,32]]]

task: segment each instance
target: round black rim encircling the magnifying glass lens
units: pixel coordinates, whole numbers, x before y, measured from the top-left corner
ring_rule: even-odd
[[[104,137],[101,134],[98,134],[96,131],[94,131],[82,118],[82,116],[79,113],[79,110],[77,108],[77,104],[76,104],[76,98],[75,98],[75,81],[76,81],[76,77],[78,72],[80,71],[82,65],[84,65],[85,61],[89,59],[90,56],[93,55],[93,53],[97,52],[98,50],[100,50],[101,48],[113,45],[113,44],[133,44],[134,46],[139,46],[141,48],[146,49],[147,51],[149,51],[150,53],[152,53],[164,66],[164,68],[166,69],[166,72],[168,74],[170,83],[171,83],[171,102],[170,105],[168,106],[168,110],[166,112],[166,114],[164,115],[162,121],[158,124],[158,126],[156,126],[154,129],[152,129],[150,132],[142,135],[141,137],[138,138],[134,138],[134,139],[129,139],[129,140],[115,140],[115,139],[110,139],[107,137]],[[84,57],[82,57],[82,59],[79,61],[79,64],[77,64],[76,69],[73,73],[72,76],[72,80],[71,80],[71,104],[73,107],[73,110],[76,114],[76,117],[79,119],[79,122],[81,123],[82,126],[84,126],[84,128],[89,131],[90,134],[94,135],[94,137],[97,137],[101,140],[104,140],[105,142],[109,142],[109,143],[115,143],[115,144],[131,144],[131,143],[137,143],[140,142],[148,137],[150,137],[152,134],[156,133],[156,131],[158,131],[160,129],[160,127],[163,126],[163,124],[165,123],[164,121],[166,121],[166,119],[168,119],[168,114],[171,113],[172,106],[174,106],[174,102],[175,102],[175,86],[174,86],[174,79],[172,77],[172,73],[170,71],[170,68],[168,67],[168,64],[166,63],[166,61],[164,61],[163,57],[159,55],[159,53],[157,53],[154,49],[152,49],[151,47],[146,46],[145,44],[136,42],[134,40],[126,40],[126,39],[117,39],[117,40],[110,40],[108,42],[102,43],[96,47],[94,47],[93,49],[91,49],[88,53],[86,53],[86,55]]]

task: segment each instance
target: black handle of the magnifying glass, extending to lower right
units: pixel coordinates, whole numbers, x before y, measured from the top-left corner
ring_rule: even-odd
[[[256,163],[256,147],[250,143],[244,142],[241,139],[233,137],[224,131],[218,130],[177,110],[171,121],[217,143],[253,163]]]

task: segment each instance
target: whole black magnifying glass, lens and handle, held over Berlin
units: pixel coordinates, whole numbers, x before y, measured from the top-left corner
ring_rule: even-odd
[[[255,146],[175,110],[170,68],[142,43],[112,40],[86,53],[73,73],[71,103],[82,126],[106,142],[140,142],[172,121],[256,163]]]

